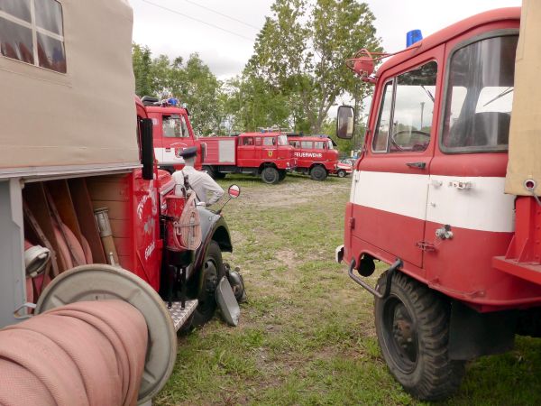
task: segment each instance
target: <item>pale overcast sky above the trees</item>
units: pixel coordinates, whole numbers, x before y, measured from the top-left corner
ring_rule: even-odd
[[[271,15],[273,0],[129,0],[133,5],[133,41],[154,56],[171,58],[198,52],[218,78],[240,74],[252,56],[253,42]],[[368,0],[377,34],[386,51],[405,48],[406,32],[426,36],[472,14],[517,6],[520,0]],[[166,10],[165,7],[169,10]],[[227,18],[224,15],[228,17]],[[219,28],[216,28],[219,27]]]

